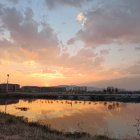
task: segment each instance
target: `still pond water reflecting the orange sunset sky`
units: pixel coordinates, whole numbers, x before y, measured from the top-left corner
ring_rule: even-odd
[[[0,111],[24,116],[63,131],[84,131],[111,136],[136,135],[140,104],[58,100],[19,100],[0,105]],[[17,108],[28,108],[26,111]]]

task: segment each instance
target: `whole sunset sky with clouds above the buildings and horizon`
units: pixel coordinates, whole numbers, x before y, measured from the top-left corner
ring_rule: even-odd
[[[0,0],[0,83],[140,89],[139,0]]]

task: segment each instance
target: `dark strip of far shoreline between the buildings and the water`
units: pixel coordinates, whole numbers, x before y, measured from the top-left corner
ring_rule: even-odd
[[[3,99],[52,99],[140,103],[140,94],[0,93]]]

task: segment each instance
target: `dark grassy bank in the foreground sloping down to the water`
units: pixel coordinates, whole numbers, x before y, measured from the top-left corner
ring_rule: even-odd
[[[63,133],[21,117],[0,113],[0,140],[113,140],[87,133]]]

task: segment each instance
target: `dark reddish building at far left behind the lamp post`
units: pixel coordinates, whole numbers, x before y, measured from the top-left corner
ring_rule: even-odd
[[[20,90],[19,84],[0,84],[0,92],[16,92]]]

